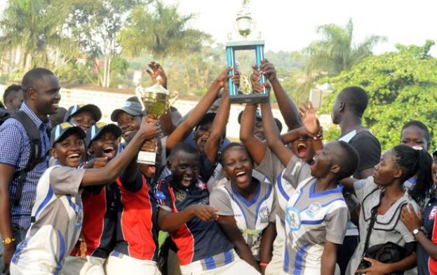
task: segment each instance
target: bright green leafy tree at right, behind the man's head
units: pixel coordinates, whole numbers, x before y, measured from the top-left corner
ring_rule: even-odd
[[[425,123],[433,135],[437,124],[437,59],[429,55],[433,45],[433,41],[424,46],[397,45],[396,52],[368,57],[349,72],[323,79],[332,83],[335,93],[326,98],[320,112],[330,113],[342,88],[361,86],[369,95],[363,124],[383,149],[399,144],[403,124],[413,119]]]

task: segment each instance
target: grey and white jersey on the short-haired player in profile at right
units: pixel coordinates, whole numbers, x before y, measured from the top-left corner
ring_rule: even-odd
[[[314,192],[316,179],[300,182],[285,210],[283,270],[288,274],[320,274],[325,241],[342,244],[349,211],[338,186]]]

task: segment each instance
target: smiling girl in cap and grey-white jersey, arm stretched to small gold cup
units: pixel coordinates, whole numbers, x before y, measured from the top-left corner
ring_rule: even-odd
[[[11,263],[12,274],[58,274],[82,228],[81,187],[114,182],[142,143],[153,137],[154,123],[142,122],[128,147],[104,168],[79,168],[86,156],[83,130],[62,123],[51,132],[51,155],[57,165],[41,176],[32,208],[32,225]],[[151,135],[153,134],[153,135]]]

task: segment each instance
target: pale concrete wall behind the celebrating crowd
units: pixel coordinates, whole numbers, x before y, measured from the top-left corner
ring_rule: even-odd
[[[3,93],[6,86],[0,85],[0,96],[1,101],[3,101]],[[123,102],[127,98],[132,97],[133,93],[119,93],[119,92],[108,92],[100,90],[82,90],[75,88],[62,88],[61,91],[62,99],[60,101],[60,106],[68,109],[69,106],[74,104],[94,104],[97,105],[102,110],[102,121],[107,123],[111,122],[110,115],[112,111],[123,105]],[[176,100],[173,105],[179,112],[186,114],[196,106],[196,101],[189,100]],[[227,124],[227,137],[238,140],[238,135],[240,131],[240,126],[238,124],[237,118],[238,114],[244,109],[243,105],[231,105],[231,113],[229,115],[229,122]],[[282,132],[285,133],[287,127],[282,119],[281,112],[278,109],[273,109],[273,114],[278,118],[283,124]]]

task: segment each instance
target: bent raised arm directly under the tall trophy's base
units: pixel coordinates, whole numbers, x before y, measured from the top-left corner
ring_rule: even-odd
[[[258,140],[257,137],[253,135],[256,112],[256,105],[248,104],[244,108],[244,112],[243,115],[241,115],[240,121],[240,140],[243,142],[243,145],[246,147],[246,149],[248,149],[253,161],[259,165],[266,154],[267,144],[261,140]]]

